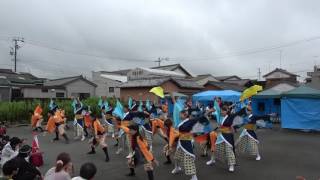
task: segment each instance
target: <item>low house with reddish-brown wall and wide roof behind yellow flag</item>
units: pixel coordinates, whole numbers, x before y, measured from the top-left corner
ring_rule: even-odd
[[[150,93],[150,89],[160,86],[164,89],[164,93],[178,92],[186,95],[192,95],[203,89],[202,86],[195,81],[177,77],[160,77],[150,79],[137,79],[131,80],[121,85],[121,99],[128,100],[128,97],[132,97],[136,100],[157,101],[159,98]]]

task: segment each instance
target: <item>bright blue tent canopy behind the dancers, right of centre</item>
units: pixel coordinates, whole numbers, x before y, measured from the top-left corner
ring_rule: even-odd
[[[214,97],[221,97],[222,101],[238,102],[240,100],[241,93],[232,90],[216,90],[216,91],[204,91],[192,96],[193,101],[209,102],[213,101]]]

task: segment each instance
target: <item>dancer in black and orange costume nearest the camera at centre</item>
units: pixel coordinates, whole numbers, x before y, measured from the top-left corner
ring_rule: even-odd
[[[122,127],[127,134],[131,136],[131,149],[133,153],[128,158],[128,166],[130,173],[127,176],[135,176],[134,168],[141,162],[144,163],[144,170],[147,172],[148,180],[153,180],[153,167],[158,165],[158,161],[154,158],[150,151],[146,139],[140,134],[139,126],[137,124],[128,127]]]

